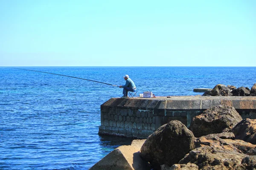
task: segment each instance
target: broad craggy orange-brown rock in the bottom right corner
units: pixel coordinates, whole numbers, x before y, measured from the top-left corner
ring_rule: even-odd
[[[240,149],[248,145],[247,147],[250,148],[248,150],[252,150],[256,145],[239,142],[220,139],[212,134],[202,136],[195,140],[197,148],[190,151],[179,161],[179,164],[192,163],[196,164],[198,169],[203,170],[236,170],[242,167],[253,167],[256,163],[255,157],[248,156],[246,150],[241,151]],[[244,147],[236,147],[234,143],[239,143],[238,146],[244,145]]]

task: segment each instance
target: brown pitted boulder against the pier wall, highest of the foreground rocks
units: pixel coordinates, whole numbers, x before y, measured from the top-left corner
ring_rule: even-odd
[[[235,108],[227,105],[218,105],[207,109],[201,115],[192,119],[190,130],[196,137],[222,133],[231,130],[242,120]]]

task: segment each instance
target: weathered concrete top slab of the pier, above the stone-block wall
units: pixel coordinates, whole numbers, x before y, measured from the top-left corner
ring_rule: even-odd
[[[111,98],[101,109],[116,107],[151,109],[209,109],[225,104],[235,109],[256,109],[256,96],[171,96],[156,98]],[[104,110],[102,110],[104,111]]]

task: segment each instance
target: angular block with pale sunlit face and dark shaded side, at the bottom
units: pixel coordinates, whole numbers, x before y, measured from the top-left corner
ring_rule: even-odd
[[[140,158],[138,147],[120,146],[97,162],[89,170],[150,170],[148,162]]]

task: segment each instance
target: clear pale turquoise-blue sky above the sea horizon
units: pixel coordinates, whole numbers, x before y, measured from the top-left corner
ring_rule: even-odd
[[[0,0],[0,66],[256,66],[256,0]]]

